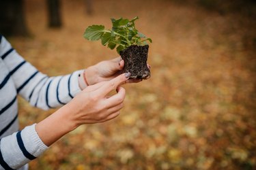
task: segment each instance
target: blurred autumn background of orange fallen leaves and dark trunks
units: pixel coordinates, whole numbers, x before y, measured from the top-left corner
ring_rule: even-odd
[[[0,6],[0,33],[50,76],[118,56],[83,38],[91,24],[111,28],[110,18],[139,16],[137,29],[153,39],[152,77],[124,86],[120,116],[79,127],[30,169],[256,169],[255,1],[16,0]],[[21,98],[19,105],[20,128],[55,111]]]

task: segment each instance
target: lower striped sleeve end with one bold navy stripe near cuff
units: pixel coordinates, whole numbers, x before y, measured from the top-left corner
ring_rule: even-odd
[[[27,126],[0,140],[0,165],[3,169],[18,169],[47,149],[35,131],[35,124]]]

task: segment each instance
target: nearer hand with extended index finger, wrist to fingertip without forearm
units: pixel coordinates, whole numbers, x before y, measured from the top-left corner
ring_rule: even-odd
[[[76,95],[66,105],[67,109],[73,111],[72,115],[70,114],[70,120],[74,122],[74,126],[105,122],[118,116],[119,109],[124,106],[126,94],[120,85],[126,83],[129,76],[130,73],[123,73],[112,80],[88,86]],[[109,97],[108,94],[112,90],[116,90],[117,94]]]

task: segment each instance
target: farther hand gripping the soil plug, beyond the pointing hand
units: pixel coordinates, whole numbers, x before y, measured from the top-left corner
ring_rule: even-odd
[[[148,65],[150,68],[150,66]],[[111,80],[122,73],[124,69],[124,60],[120,57],[109,61],[102,61],[96,65],[88,67],[85,70],[85,79],[88,85],[96,84],[98,82]],[[127,80],[126,83],[141,82],[138,79]]]

